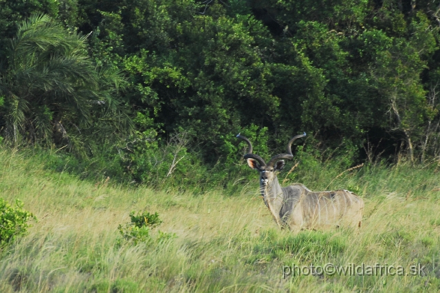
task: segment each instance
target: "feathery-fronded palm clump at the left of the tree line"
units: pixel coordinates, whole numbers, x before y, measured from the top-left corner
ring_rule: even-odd
[[[9,138],[67,143],[79,154],[85,135],[132,129],[119,96],[124,75],[96,67],[88,56],[87,36],[69,33],[43,14],[18,27],[6,67],[0,69],[0,94],[5,96],[0,114],[7,116]]]

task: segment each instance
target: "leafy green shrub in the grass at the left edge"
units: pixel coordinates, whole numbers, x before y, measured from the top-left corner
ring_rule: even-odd
[[[14,241],[20,235],[27,232],[28,220],[35,218],[32,213],[29,213],[23,208],[21,200],[15,200],[15,207],[10,206],[0,197],[0,248],[6,246],[11,241]]]

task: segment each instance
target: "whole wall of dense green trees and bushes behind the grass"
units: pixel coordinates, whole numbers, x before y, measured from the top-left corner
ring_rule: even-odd
[[[402,0],[3,1],[1,140],[176,186],[228,184],[237,133],[263,156],[306,131],[303,151],[322,160],[425,162],[440,155],[439,13]]]

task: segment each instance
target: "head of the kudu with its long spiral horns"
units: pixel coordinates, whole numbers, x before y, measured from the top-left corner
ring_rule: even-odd
[[[292,155],[292,150],[291,150],[292,143],[297,138],[305,137],[305,135],[306,134],[304,133],[294,136],[292,140],[290,140],[289,143],[287,144],[286,153],[280,153],[278,155],[274,155],[274,157],[272,157],[272,159],[270,159],[270,161],[267,164],[264,162],[263,158],[261,158],[259,155],[252,153],[252,144],[250,143],[250,140],[248,140],[248,138],[245,138],[240,134],[236,135],[236,138],[244,140],[245,142],[248,143],[249,151],[247,154],[243,155],[243,158],[248,160],[248,165],[250,166],[251,169],[259,171],[261,186],[267,186],[267,184],[270,184],[270,182],[274,180],[275,172],[281,171],[284,168],[285,161],[279,159],[292,160],[292,158],[294,158],[294,155]]]

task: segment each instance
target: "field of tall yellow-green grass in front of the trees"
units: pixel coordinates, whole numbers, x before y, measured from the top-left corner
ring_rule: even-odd
[[[280,230],[254,184],[236,195],[85,182],[39,158],[0,151],[0,197],[36,215],[28,235],[0,254],[0,292],[439,292],[437,163],[364,166],[340,175],[321,166],[296,181],[349,188],[364,198],[358,230]],[[244,166],[243,166],[244,168]],[[287,173],[287,172],[285,172]],[[280,175],[283,180],[284,174]],[[293,182],[286,180],[285,185]],[[136,246],[118,225],[132,211],[159,213],[153,239]],[[175,237],[159,241],[159,230]],[[287,266],[401,265],[405,276],[287,276]],[[424,265],[411,275],[411,265]],[[307,273],[307,271],[305,271]]]

